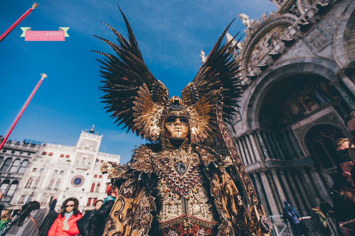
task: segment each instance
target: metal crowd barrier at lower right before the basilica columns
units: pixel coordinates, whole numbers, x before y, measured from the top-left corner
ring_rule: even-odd
[[[291,227],[284,223],[282,215],[269,215],[269,219],[273,225],[271,236],[293,236]],[[302,217],[301,222],[304,236],[329,236],[324,235],[316,218],[310,216]],[[327,217],[327,224],[330,235],[338,236],[335,219]]]

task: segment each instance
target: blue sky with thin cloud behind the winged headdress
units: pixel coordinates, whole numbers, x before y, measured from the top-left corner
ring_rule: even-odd
[[[80,2],[80,3],[79,3]],[[239,13],[259,18],[275,10],[269,0],[194,1],[38,1],[40,4],[0,43],[1,116],[4,135],[28,95],[40,79],[38,89],[10,139],[32,139],[75,145],[81,130],[103,134],[100,151],[120,154],[121,163],[130,159],[135,145],[145,143],[135,134],[113,124],[100,103],[99,62],[101,56],[89,51],[112,52],[98,35],[111,41],[115,35],[101,21],[126,35],[119,4],[131,24],[140,50],[153,75],[168,88],[170,96],[195,77],[201,65],[200,50],[212,49],[224,28],[234,35],[245,29]],[[11,26],[33,1],[4,1],[0,8],[0,34]],[[70,27],[64,42],[26,42],[20,27],[58,30]]]

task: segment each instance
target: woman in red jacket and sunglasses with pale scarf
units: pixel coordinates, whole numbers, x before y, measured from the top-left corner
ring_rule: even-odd
[[[82,215],[78,210],[79,202],[75,198],[68,198],[62,205],[61,213],[55,219],[48,231],[48,236],[71,236],[79,234],[78,221]]]

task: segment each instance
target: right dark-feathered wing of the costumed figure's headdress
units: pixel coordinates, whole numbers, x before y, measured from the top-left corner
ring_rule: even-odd
[[[207,57],[206,62],[201,66],[195,78],[181,91],[181,99],[184,100],[185,104],[195,109],[196,113],[198,113],[197,111],[201,112],[202,110],[208,111],[207,114],[204,114],[204,120],[206,120],[207,116],[209,116],[208,125],[198,121],[191,121],[191,123],[200,124],[200,126],[196,128],[198,130],[198,132],[196,132],[196,140],[203,140],[207,137],[208,132],[217,128],[215,118],[215,107],[217,103],[215,101],[217,101],[216,96],[219,92],[223,97],[222,112],[226,122],[229,122],[229,119],[233,119],[232,114],[236,112],[235,107],[239,107],[236,99],[241,97],[241,88],[239,84],[241,79],[240,76],[238,77],[237,75],[242,72],[243,69],[239,69],[240,65],[238,65],[241,60],[235,60],[232,58],[232,54],[237,44],[231,46],[239,33],[228,43],[221,46],[222,40],[231,23],[224,30],[217,43],[214,45],[211,53]],[[206,99],[208,101],[206,101]],[[205,107],[206,102],[211,106],[211,109],[201,110],[200,106]]]

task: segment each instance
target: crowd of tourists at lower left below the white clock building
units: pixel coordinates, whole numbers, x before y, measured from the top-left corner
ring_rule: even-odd
[[[117,194],[117,189],[108,186],[105,200],[97,200],[95,208],[84,215],[78,209],[76,198],[66,199],[59,212],[55,211],[56,199],[45,208],[40,208],[37,201],[28,202],[12,216],[9,209],[4,209],[0,216],[0,236],[101,236]]]

